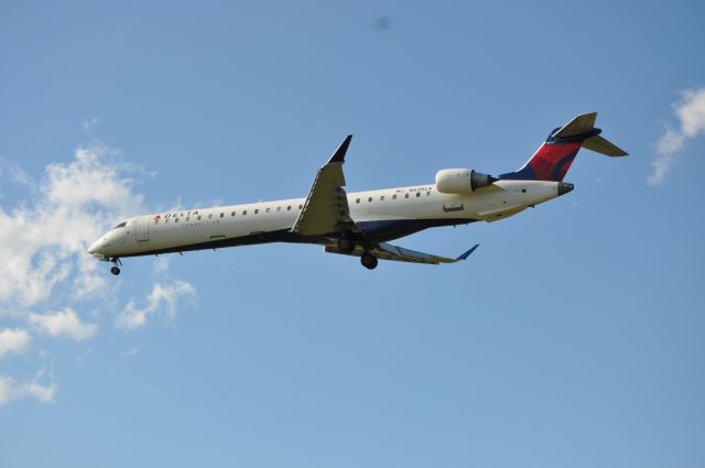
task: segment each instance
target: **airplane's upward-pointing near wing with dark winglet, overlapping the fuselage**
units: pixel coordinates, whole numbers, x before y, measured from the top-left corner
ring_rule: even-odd
[[[343,187],[343,163],[352,135],[348,135],[333,153],[330,160],[318,170],[304,207],[292,230],[302,236],[325,236],[350,229],[359,231],[350,218],[348,197]]]

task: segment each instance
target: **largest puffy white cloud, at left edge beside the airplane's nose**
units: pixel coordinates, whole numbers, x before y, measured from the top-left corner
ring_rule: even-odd
[[[48,165],[39,183],[22,177],[36,187],[32,202],[0,206],[0,306],[35,305],[59,284],[77,297],[105,285],[86,250],[142,205],[126,176],[133,168],[116,162],[118,153],[102,144],[79,148],[72,162]]]

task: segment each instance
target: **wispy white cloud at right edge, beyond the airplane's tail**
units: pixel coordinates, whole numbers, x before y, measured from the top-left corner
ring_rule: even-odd
[[[663,135],[657,143],[658,154],[651,163],[653,173],[647,179],[651,185],[662,184],[685,143],[705,133],[705,88],[681,91],[681,99],[672,107],[679,124],[673,127],[666,123]]]

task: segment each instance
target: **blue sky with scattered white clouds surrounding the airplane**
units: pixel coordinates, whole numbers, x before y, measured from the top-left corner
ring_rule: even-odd
[[[705,7],[0,6],[0,466],[701,467]],[[380,21],[380,19],[384,19]],[[87,258],[141,213],[514,170],[561,199],[397,241]],[[126,314],[139,326],[121,326]]]

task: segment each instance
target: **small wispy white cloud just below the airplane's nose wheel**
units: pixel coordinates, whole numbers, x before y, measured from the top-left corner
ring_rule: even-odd
[[[164,312],[167,318],[173,319],[176,315],[176,304],[192,301],[195,295],[195,287],[184,281],[176,281],[172,284],[155,283],[144,301],[145,305],[139,307],[134,301],[130,301],[118,314],[115,326],[121,329],[139,328],[147,325],[150,316],[160,312]]]

